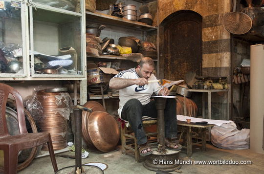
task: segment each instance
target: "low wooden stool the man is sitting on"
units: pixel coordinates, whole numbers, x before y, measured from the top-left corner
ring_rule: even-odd
[[[123,121],[123,120],[122,120]],[[124,125],[124,124],[125,125]],[[122,125],[121,125],[121,141],[122,141],[122,155],[126,155],[127,154],[127,150],[131,150],[135,153],[135,161],[138,163],[140,160],[140,154],[138,152],[138,147],[137,147],[137,143],[136,143],[136,137],[134,136],[134,133],[131,129],[128,129],[126,127],[126,122],[123,121]],[[156,125],[157,124],[157,120],[146,120],[143,121],[143,128],[146,132],[146,127],[151,126],[151,125]],[[130,125],[129,125],[130,128]],[[157,135],[157,132],[146,132],[146,136],[152,136],[152,135]],[[134,143],[127,145],[127,140],[128,139],[134,139]],[[154,145],[156,144],[156,142],[154,143],[148,143],[149,145]],[[133,148],[134,146],[134,148]]]

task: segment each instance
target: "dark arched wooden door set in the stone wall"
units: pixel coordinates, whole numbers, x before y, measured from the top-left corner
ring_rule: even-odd
[[[189,71],[202,76],[202,16],[193,11],[175,12],[161,25],[164,78],[184,80]]]

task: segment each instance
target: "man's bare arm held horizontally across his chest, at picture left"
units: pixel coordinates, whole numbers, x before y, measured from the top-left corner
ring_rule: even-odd
[[[122,79],[119,77],[112,78],[109,82],[109,87],[111,89],[123,89],[125,87],[130,87],[132,85],[143,86],[148,84],[148,80],[145,78],[139,79]]]

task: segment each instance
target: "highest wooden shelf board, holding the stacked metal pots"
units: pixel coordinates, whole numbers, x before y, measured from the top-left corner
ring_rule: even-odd
[[[89,12],[86,11],[86,20],[91,21],[91,22],[96,22],[96,23],[104,23],[104,24],[110,24],[114,26],[120,26],[123,28],[132,28],[140,31],[150,31],[150,30],[156,30],[156,26],[152,25],[147,25],[142,22],[136,22],[136,21],[131,21],[127,20],[124,18],[118,18],[115,16],[110,16],[102,13],[97,13],[97,12]]]

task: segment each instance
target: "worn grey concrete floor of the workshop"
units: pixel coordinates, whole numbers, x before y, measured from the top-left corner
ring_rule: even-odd
[[[119,149],[117,147],[117,149]],[[74,155],[70,152],[62,152],[59,154]],[[87,158],[82,158],[82,163],[102,162],[109,167],[104,174],[156,174],[143,167],[143,162],[135,163],[132,152],[128,152],[123,156],[120,151],[114,150],[109,153],[100,151],[90,152]],[[56,157],[58,169],[75,165],[75,159],[64,157]],[[141,158],[144,160],[144,157]],[[191,161],[192,164],[184,164],[181,166],[183,174],[263,174],[264,173],[264,154],[252,152],[251,150],[224,150],[213,145],[207,144],[206,152],[201,152],[201,145],[193,146],[192,157],[186,156],[186,149],[182,149],[179,153],[179,160]],[[245,161],[251,164],[194,164],[198,161],[214,161],[226,162]],[[225,161],[224,161],[225,160]],[[176,172],[170,172],[177,174]],[[35,158],[32,163],[18,174],[54,174],[49,156]]]

